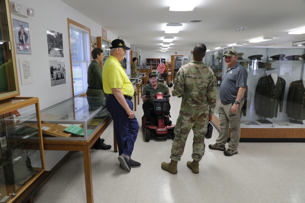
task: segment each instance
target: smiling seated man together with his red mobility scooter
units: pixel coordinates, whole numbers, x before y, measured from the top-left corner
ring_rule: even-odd
[[[174,129],[174,125],[171,125],[172,122],[168,118],[170,104],[167,100],[169,100],[170,92],[167,86],[157,81],[156,74],[153,72],[149,73],[149,82],[149,84],[144,86],[142,91],[142,101],[144,102],[142,106],[144,111],[142,128],[145,131],[145,141],[149,141],[150,134],[154,133],[160,135],[156,138],[166,139],[168,129],[172,129],[172,131]],[[154,100],[156,99],[161,99],[157,101],[157,105],[161,105],[162,109],[155,109]],[[149,135],[147,136],[147,134]]]

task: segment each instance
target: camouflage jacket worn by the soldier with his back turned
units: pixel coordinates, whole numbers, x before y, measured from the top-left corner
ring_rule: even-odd
[[[173,96],[182,97],[181,110],[209,110],[213,115],[216,104],[216,76],[202,61],[181,66],[176,77]]]

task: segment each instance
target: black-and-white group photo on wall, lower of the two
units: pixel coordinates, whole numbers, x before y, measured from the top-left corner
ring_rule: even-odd
[[[66,84],[65,61],[49,60],[51,87]]]

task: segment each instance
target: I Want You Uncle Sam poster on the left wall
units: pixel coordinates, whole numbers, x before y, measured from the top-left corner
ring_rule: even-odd
[[[13,19],[16,54],[32,54],[29,23]]]

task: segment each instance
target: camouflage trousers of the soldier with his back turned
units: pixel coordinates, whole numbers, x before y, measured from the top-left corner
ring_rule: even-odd
[[[190,114],[180,110],[179,117],[175,126],[175,138],[172,143],[170,159],[180,161],[184,152],[185,142],[188,133],[193,130],[193,153],[192,158],[200,161],[204,155],[204,135],[207,131],[209,110],[200,113]]]

